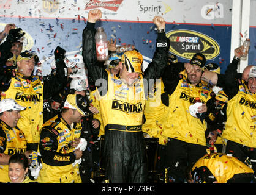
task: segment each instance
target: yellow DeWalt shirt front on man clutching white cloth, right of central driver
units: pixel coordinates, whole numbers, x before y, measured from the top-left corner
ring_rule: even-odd
[[[211,98],[211,89],[204,82],[194,86],[184,78],[179,80],[175,91],[169,96],[169,106],[164,110],[166,122],[162,135],[206,146],[206,122],[202,123],[199,118],[190,115],[189,106],[194,104],[197,97],[206,104]]]

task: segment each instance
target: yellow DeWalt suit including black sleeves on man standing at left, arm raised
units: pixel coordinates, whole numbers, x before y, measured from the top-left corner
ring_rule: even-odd
[[[55,54],[56,72],[43,79],[36,75],[25,77],[18,71],[0,67],[1,99],[12,98],[19,105],[27,107],[20,112],[21,118],[17,126],[23,130],[29,150],[38,149],[39,130],[43,125],[43,99],[50,98],[67,82],[67,68],[63,56]]]

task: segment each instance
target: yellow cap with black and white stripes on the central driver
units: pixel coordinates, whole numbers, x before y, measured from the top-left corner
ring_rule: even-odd
[[[122,54],[121,62],[126,65],[126,69],[129,73],[142,73],[141,65],[143,63],[143,56],[140,52],[135,50],[127,51]]]

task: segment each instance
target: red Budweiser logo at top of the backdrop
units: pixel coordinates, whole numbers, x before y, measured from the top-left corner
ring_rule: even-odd
[[[115,1],[99,1],[99,0],[90,0],[85,3],[85,10],[96,9],[103,7],[108,10],[117,11],[123,0]]]

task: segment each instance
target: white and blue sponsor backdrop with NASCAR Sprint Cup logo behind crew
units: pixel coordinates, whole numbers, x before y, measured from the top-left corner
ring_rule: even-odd
[[[250,13],[255,12],[255,1]],[[83,66],[81,57],[82,32],[88,12],[102,10],[102,26],[108,40],[116,44],[133,44],[143,55],[145,69],[156,48],[154,16],[166,21],[166,35],[170,39],[170,52],[180,62],[189,62],[196,52],[203,52],[207,62],[220,65],[224,73],[230,63],[232,1],[219,0],[0,0],[0,30],[9,23],[21,27],[26,36],[23,51],[32,50],[39,55],[40,71],[49,74],[53,65],[53,51],[61,46],[67,58]],[[253,10],[254,9],[254,10]],[[251,21],[256,22],[255,16]],[[249,63],[255,64],[255,24],[250,27],[251,47]],[[241,32],[241,36],[248,36]],[[81,68],[77,69],[78,74]]]

